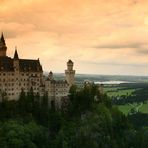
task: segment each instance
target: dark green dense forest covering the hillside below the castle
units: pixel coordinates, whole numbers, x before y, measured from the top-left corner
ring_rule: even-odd
[[[71,87],[62,110],[47,96],[22,91],[18,101],[0,103],[0,148],[147,148],[142,114],[126,117],[94,84]],[[138,120],[143,122],[138,123]]]

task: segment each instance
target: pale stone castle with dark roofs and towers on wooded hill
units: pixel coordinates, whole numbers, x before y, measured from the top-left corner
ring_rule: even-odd
[[[0,100],[18,100],[22,90],[27,93],[31,89],[34,94],[48,95],[49,106],[53,103],[61,108],[62,100],[68,97],[69,88],[74,84],[74,63],[67,62],[65,80],[54,80],[53,73],[48,77],[43,75],[40,60],[20,59],[17,49],[14,57],[8,57],[7,46],[3,36],[0,38]]]

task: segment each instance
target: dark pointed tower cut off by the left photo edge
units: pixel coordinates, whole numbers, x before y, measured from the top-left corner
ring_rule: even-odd
[[[5,43],[4,35],[2,33],[1,38],[0,38],[0,57],[5,57],[6,51],[7,51],[7,46]]]

